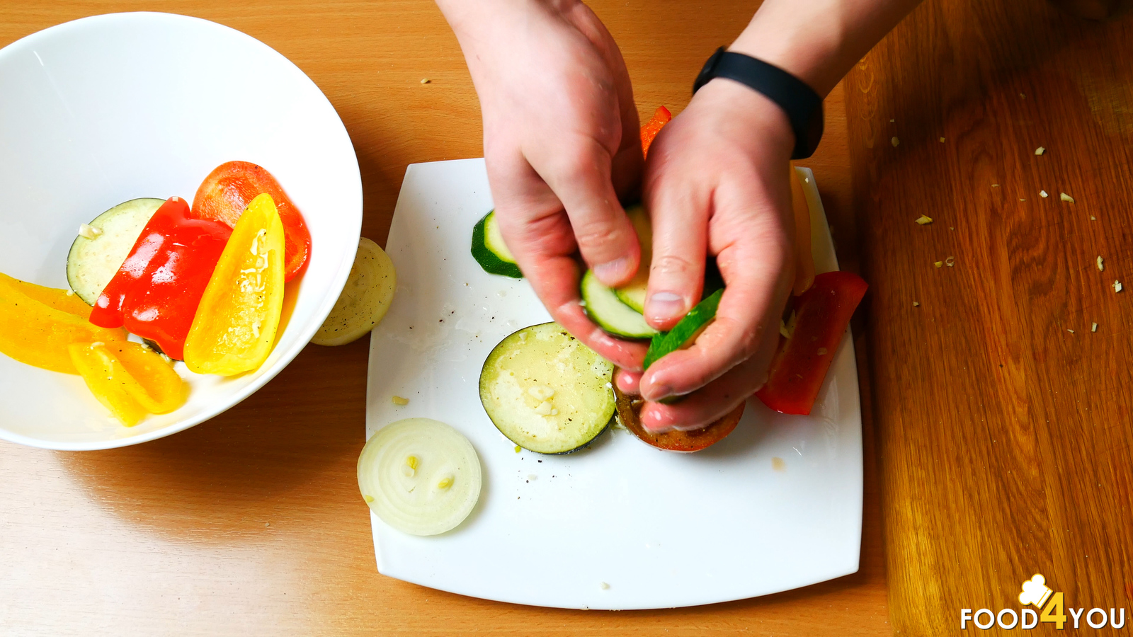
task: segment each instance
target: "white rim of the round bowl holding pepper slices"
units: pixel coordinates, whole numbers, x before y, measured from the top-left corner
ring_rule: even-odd
[[[303,328],[303,330],[299,332],[299,338],[296,340],[295,345],[282,351],[279,351],[278,353],[279,358],[275,360],[275,363],[272,365],[271,368],[266,370],[257,379],[255,379],[246,387],[240,389],[237,393],[230,397],[229,400],[227,400],[222,406],[204,409],[202,413],[197,414],[194,417],[178,421],[176,423],[172,423],[170,425],[167,425],[157,430],[153,430],[144,434],[116,438],[102,441],[63,442],[57,440],[44,440],[11,432],[7,430],[2,424],[0,424],[0,440],[6,440],[8,442],[15,442],[27,447],[50,449],[56,451],[96,451],[103,449],[118,449],[122,447],[140,444],[143,442],[148,442],[151,440],[157,440],[160,438],[165,438],[168,435],[172,435],[174,433],[182,432],[189,427],[196,426],[205,421],[219,416],[220,414],[223,414],[224,411],[239,405],[249,396],[252,396],[261,388],[263,388],[265,384],[267,384],[269,381],[274,379],[280,372],[283,371],[284,367],[290,365],[291,362],[296,358],[296,356],[298,356],[299,353],[303,351],[303,349],[310,343],[310,339],[314,338],[315,332],[322,325],[323,321],[326,320],[326,316],[331,313],[331,309],[333,309],[334,304],[338,301],[338,297],[342,292],[343,287],[346,287],[347,279],[350,275],[350,267],[353,264],[353,260],[357,254],[358,239],[361,237],[364,202],[363,202],[363,187],[361,187],[361,171],[358,167],[358,154],[355,151],[353,142],[350,139],[350,133],[347,130],[346,125],[342,122],[342,118],[339,116],[338,110],[334,108],[334,104],[331,103],[331,101],[326,97],[326,94],[323,93],[322,88],[320,88],[318,85],[315,84],[315,82],[310,79],[310,77],[306,73],[304,73],[301,68],[299,68],[295,62],[289,60],[286,56],[283,56],[275,49],[269,46],[267,44],[253,37],[252,35],[248,35],[247,33],[244,33],[242,31],[232,28],[230,26],[222,25],[220,23],[215,23],[212,20],[194,16],[186,16],[181,14],[170,14],[164,11],[121,11],[111,14],[99,14],[50,26],[48,28],[37,31],[35,33],[25,35],[24,37],[16,40],[15,42],[8,44],[7,46],[0,48],[0,65],[5,62],[5,58],[18,54],[19,52],[23,52],[28,48],[35,46],[37,43],[43,42],[45,40],[60,36],[66,37],[69,33],[74,32],[75,29],[92,28],[92,27],[100,28],[103,25],[116,24],[122,20],[146,20],[146,22],[152,20],[154,24],[174,24],[174,23],[191,24],[195,28],[211,31],[214,34],[221,34],[222,36],[225,37],[235,37],[237,40],[244,40],[245,43],[252,46],[262,48],[263,50],[265,50],[266,54],[270,58],[275,58],[278,61],[282,62],[286,66],[292,67],[296,71],[298,71],[303,80],[309,83],[310,86],[314,87],[318,96],[322,97],[322,100],[330,108],[330,111],[331,113],[333,113],[334,120],[338,124],[338,128],[342,131],[342,135],[347,142],[346,150],[349,153],[349,159],[350,159],[348,163],[353,169],[352,179],[350,178],[351,176],[347,176],[347,180],[351,182],[353,189],[352,198],[356,198],[356,201],[358,202],[358,210],[356,215],[357,216],[356,223],[353,223],[353,227],[350,227],[350,222],[347,221],[346,229],[349,230],[350,236],[355,237],[355,240],[352,241],[351,247],[349,247],[347,250],[342,253],[342,261],[339,263],[339,271],[335,273],[334,278],[331,280],[330,286],[327,288],[329,290],[333,290],[334,294],[329,295],[326,298],[323,299],[322,305],[320,305],[312,315],[313,317],[312,322],[307,324],[305,328]],[[317,318],[317,321],[315,321],[314,318]],[[275,354],[274,350],[273,354]]]

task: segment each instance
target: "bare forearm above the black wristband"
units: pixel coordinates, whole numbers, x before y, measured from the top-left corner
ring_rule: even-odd
[[[790,71],[819,95],[920,0],[765,0],[729,50]]]

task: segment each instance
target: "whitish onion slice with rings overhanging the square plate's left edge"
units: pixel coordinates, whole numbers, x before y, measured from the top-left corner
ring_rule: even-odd
[[[465,521],[480,498],[480,459],[468,439],[431,418],[380,428],[358,457],[358,489],[393,528],[437,535]]]

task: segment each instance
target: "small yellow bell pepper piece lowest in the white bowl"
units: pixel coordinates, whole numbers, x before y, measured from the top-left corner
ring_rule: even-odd
[[[173,366],[140,343],[80,342],[68,351],[94,397],[128,427],[188,399],[188,385]]]

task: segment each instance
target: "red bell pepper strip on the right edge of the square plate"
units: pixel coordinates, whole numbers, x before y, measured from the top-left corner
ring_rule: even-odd
[[[794,331],[780,345],[756,396],[782,414],[810,414],[850,317],[869,286],[852,272],[825,272],[798,298]]]

